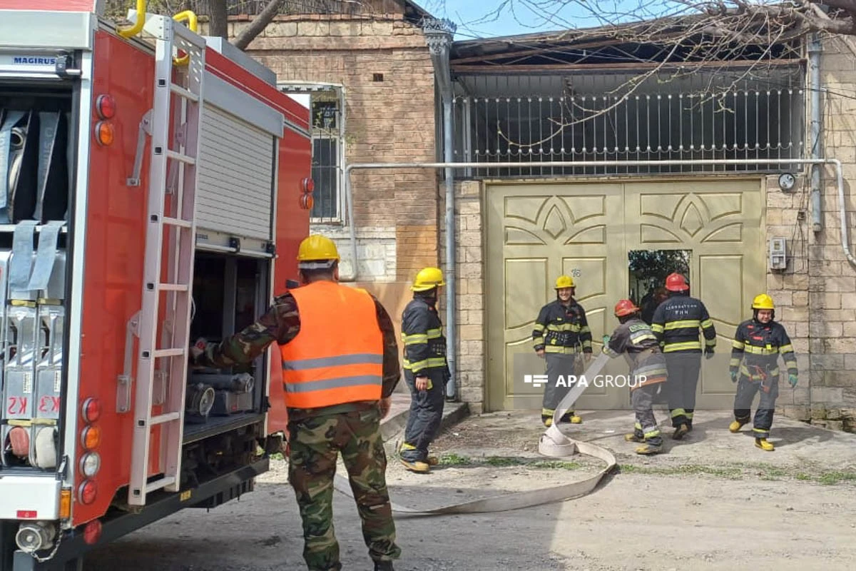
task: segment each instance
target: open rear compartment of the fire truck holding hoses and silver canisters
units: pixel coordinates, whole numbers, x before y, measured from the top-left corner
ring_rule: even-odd
[[[57,463],[73,93],[0,79],[0,471]]]

